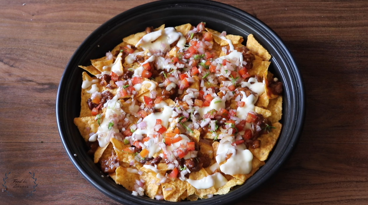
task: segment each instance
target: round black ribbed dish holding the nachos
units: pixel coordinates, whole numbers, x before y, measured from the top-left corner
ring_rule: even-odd
[[[83,70],[78,65],[90,65],[89,59],[105,53],[121,43],[122,38],[141,32],[147,26],[163,23],[178,26],[206,22],[208,28],[246,37],[252,33],[272,55],[270,70],[284,84],[282,132],[266,164],[243,185],[225,195],[188,202],[167,202],[147,197],[134,197],[130,191],[117,185],[100,171],[100,167],[86,154],[87,148],[74,117],[79,116]],[[155,1],[144,4],[110,19],[96,29],[71,57],[61,78],[56,100],[57,125],[61,141],[78,171],[103,194],[127,204],[228,204],[245,197],[269,179],[280,168],[297,143],[302,131],[305,113],[304,87],[296,62],[283,41],[272,29],[252,15],[227,4],[206,0]],[[77,156],[74,156],[76,154]],[[104,176],[104,177],[102,177]],[[267,194],[267,193],[263,193]]]

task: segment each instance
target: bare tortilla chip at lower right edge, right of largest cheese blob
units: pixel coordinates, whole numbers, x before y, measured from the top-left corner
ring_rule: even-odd
[[[254,149],[249,147],[249,150],[252,152],[253,156],[256,157],[260,161],[265,161],[268,158],[268,155],[272,148],[275,146],[277,138],[279,138],[282,124],[279,122],[275,122],[272,124],[273,127],[271,131],[267,134],[261,135],[258,140],[261,140],[261,145]]]

